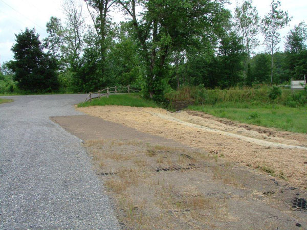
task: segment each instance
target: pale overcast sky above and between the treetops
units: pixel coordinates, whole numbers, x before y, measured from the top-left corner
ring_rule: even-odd
[[[82,1],[83,2],[83,1]],[[228,8],[233,10],[236,0],[230,0],[232,5]],[[259,15],[264,16],[270,11],[270,0],[254,0]],[[287,10],[293,17],[290,27],[280,31],[282,37],[286,36],[294,25],[300,21],[307,21],[307,1],[305,0],[280,0],[281,9]],[[24,31],[26,27],[35,27],[40,39],[47,36],[46,23],[51,16],[56,16],[64,20],[65,16],[61,9],[62,0],[0,0],[0,63],[12,60],[11,47],[15,42],[15,35]],[[83,9],[84,11],[86,8]],[[114,14],[115,20],[121,20],[119,14]],[[281,41],[283,50],[284,39]]]

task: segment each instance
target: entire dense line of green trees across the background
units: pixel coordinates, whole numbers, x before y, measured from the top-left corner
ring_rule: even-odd
[[[51,17],[49,36],[43,41],[34,29],[16,35],[15,60],[7,63],[14,72],[10,82],[30,91],[74,92],[130,84],[142,88],[145,97],[163,101],[165,91],[183,85],[279,84],[306,73],[306,25],[301,22],[291,29],[285,50],[279,51],[278,31],[291,17],[275,0],[262,19],[252,0],[238,4],[234,15],[224,0],[85,3],[82,9],[81,2],[65,0],[67,18]],[[127,20],[112,22],[113,9]],[[92,25],[86,25],[84,11]],[[258,39],[260,33],[264,44]],[[267,52],[254,55],[259,45],[265,45]],[[6,76],[2,72],[0,87]]]

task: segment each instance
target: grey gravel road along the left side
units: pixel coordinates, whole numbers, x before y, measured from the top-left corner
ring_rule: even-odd
[[[119,228],[80,139],[49,119],[82,114],[73,105],[85,97],[0,104],[0,229]]]

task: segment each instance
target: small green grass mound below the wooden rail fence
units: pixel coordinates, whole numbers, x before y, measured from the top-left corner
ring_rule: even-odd
[[[138,94],[118,94],[110,95],[109,98],[102,97],[100,99],[94,99],[92,102],[85,102],[78,104],[78,107],[87,107],[92,105],[122,105],[131,107],[153,107],[158,105],[150,100],[141,98]]]

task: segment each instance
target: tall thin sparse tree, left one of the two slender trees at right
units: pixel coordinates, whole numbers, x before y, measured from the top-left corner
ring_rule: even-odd
[[[243,37],[243,44],[245,52],[247,54],[244,59],[244,77],[245,72],[250,72],[250,56],[253,49],[255,49],[259,40],[257,35],[260,32],[260,17],[258,16],[258,11],[256,7],[252,6],[252,0],[245,1],[242,6],[237,6],[235,8],[235,26]],[[250,78],[251,76],[248,76]],[[250,81],[250,79],[249,79]]]

